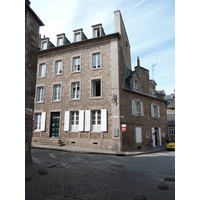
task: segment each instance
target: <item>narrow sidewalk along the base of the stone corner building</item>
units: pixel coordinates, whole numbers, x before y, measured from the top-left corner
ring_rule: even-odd
[[[141,154],[156,153],[160,151],[165,151],[165,147],[154,147],[150,149],[138,149],[132,151],[112,151],[112,150],[103,150],[103,149],[92,149],[85,147],[75,147],[75,146],[49,146],[49,145],[40,145],[32,143],[32,148],[40,149],[50,149],[58,151],[68,151],[68,152],[77,152],[77,153],[87,153],[87,154],[104,154],[104,155],[117,155],[117,156],[137,156]]]

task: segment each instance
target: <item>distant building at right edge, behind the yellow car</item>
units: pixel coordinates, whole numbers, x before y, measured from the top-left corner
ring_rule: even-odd
[[[168,137],[170,140],[175,139],[175,92],[174,94],[166,95],[167,101],[167,125]]]

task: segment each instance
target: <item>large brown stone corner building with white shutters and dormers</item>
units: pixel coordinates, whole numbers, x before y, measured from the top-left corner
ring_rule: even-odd
[[[128,150],[164,144],[165,101],[138,64],[131,70],[130,43],[120,11],[115,33],[92,26],[93,38],[74,31],[57,47],[41,39],[35,95],[34,143]],[[138,58],[139,63],[139,58]],[[122,128],[123,126],[123,128]],[[124,128],[126,127],[126,131]]]

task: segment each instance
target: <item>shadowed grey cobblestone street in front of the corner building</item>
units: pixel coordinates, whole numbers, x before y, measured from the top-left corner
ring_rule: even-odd
[[[148,200],[175,199],[175,182],[165,181],[175,177],[174,152],[111,156],[32,149],[32,159],[26,200],[129,200],[138,193]],[[41,168],[47,174],[39,174]],[[168,190],[157,189],[162,181]]]

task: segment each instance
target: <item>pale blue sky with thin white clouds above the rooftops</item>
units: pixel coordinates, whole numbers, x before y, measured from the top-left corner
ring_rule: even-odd
[[[83,28],[92,38],[92,25],[102,23],[105,34],[115,32],[114,11],[120,10],[131,45],[132,69],[137,56],[149,70],[157,90],[175,89],[175,0],[30,0],[44,27],[40,34],[56,45],[56,35],[65,33],[73,42],[73,30]]]

